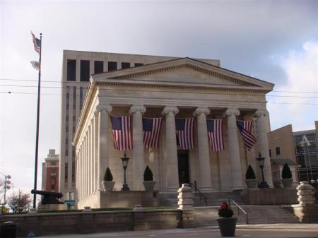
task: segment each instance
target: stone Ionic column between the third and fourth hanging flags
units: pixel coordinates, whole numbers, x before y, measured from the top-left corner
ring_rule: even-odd
[[[208,152],[208,128],[206,126],[206,115],[210,114],[208,108],[197,108],[194,116],[198,121],[198,153],[200,167],[200,190],[212,191],[210,155]]]

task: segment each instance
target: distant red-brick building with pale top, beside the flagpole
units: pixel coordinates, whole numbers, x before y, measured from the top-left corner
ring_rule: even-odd
[[[59,191],[59,155],[53,149],[42,163],[42,190]]]

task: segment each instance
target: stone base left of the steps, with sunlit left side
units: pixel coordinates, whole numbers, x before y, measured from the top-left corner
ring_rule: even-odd
[[[78,201],[77,208],[127,208],[158,206],[158,191],[98,191]]]

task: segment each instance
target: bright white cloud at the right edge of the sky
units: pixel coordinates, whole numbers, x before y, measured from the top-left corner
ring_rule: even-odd
[[[269,98],[272,129],[293,125],[293,131],[314,129],[314,121],[318,120],[318,42],[308,41],[302,49],[291,50],[286,56],[274,56],[274,60],[285,71],[287,81],[278,84],[273,93],[290,97]],[[286,93],[306,92],[306,93]],[[290,103],[288,105],[271,104],[271,102]]]

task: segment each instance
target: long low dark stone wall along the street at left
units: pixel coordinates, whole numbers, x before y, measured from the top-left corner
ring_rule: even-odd
[[[146,210],[117,212],[78,212],[29,215],[6,215],[0,223],[18,223],[17,236],[28,232],[36,236],[52,234],[83,234],[124,230],[172,229],[181,224],[181,210]]]

